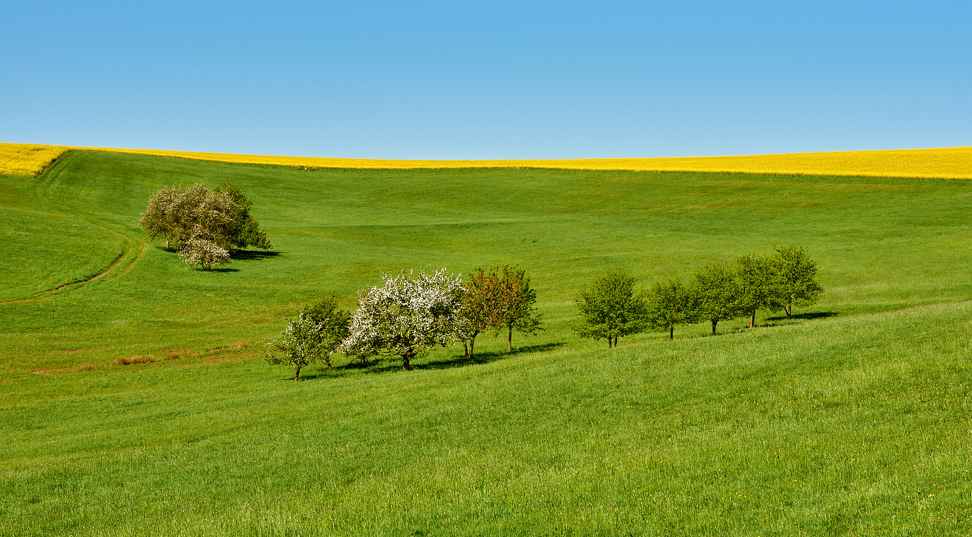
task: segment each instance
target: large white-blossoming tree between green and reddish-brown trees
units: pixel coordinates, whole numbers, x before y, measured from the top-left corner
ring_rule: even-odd
[[[359,307],[351,316],[341,352],[397,355],[401,369],[408,371],[419,352],[462,339],[461,275],[440,269],[381,276],[385,282],[381,287],[358,291]]]

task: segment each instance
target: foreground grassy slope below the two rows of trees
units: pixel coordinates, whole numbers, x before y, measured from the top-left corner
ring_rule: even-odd
[[[36,378],[4,401],[0,532],[965,535],[970,313],[304,382]]]

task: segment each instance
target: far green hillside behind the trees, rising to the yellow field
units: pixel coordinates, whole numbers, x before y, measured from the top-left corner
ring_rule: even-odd
[[[189,269],[157,243],[139,257],[137,242],[147,239],[137,218],[152,192],[224,180],[257,200],[254,214],[275,242],[273,252],[214,272]],[[47,301],[0,304],[0,363],[17,371],[259,341],[317,293],[333,290],[352,306],[356,289],[380,281],[379,270],[426,265],[530,269],[550,326],[534,343],[572,340],[563,329],[573,314],[571,299],[599,270],[632,269],[647,284],[687,277],[713,259],[769,252],[774,244],[803,245],[818,261],[827,292],[811,312],[851,314],[972,297],[967,182],[530,169],[304,171],[72,152],[40,179],[4,179],[0,186],[13,193],[0,201],[12,215],[5,229],[27,233],[21,242],[33,244],[0,258],[6,300],[35,294],[39,263],[63,266],[45,282],[62,274],[68,283],[108,269],[127,252],[121,277]],[[51,222],[64,220],[61,213],[80,219],[72,225],[87,226],[90,234],[78,240],[30,234],[19,224],[23,207],[56,217]]]

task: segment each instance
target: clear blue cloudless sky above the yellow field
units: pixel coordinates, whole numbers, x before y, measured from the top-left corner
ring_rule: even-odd
[[[0,141],[531,159],[972,146],[972,2],[4,2]]]

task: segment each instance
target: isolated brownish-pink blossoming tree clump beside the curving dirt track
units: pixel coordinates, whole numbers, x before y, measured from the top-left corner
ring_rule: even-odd
[[[250,216],[252,206],[232,183],[212,191],[198,183],[173,185],[149,198],[139,223],[152,238],[164,238],[166,247],[177,244],[184,262],[209,270],[230,263],[232,250],[272,247],[260,222]]]

